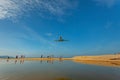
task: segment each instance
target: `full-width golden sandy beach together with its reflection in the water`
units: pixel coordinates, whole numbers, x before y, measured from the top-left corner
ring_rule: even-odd
[[[16,59],[11,58],[9,60],[16,60]],[[73,62],[82,63],[82,64],[120,67],[120,54],[116,54],[116,55],[97,55],[97,56],[75,56],[75,57],[72,57],[72,58],[19,58],[17,60],[25,60],[25,61],[71,60]]]

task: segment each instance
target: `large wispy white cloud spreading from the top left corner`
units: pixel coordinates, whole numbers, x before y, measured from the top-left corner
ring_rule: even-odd
[[[0,19],[16,18],[32,10],[39,14],[64,15],[74,4],[69,0],[0,0]]]

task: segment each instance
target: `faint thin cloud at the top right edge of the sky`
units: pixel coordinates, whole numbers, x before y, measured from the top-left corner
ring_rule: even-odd
[[[114,6],[118,2],[120,2],[120,0],[93,0],[93,1],[97,2],[97,4],[101,4],[101,5],[107,6],[109,8]]]

